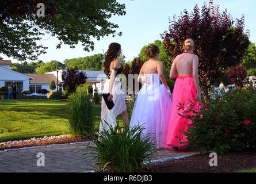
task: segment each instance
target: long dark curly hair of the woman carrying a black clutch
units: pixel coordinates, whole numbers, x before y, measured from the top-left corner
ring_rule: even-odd
[[[109,45],[108,51],[105,53],[105,61],[103,63],[104,66],[104,73],[110,78],[110,63],[114,60],[117,59],[117,52],[120,51],[121,45],[118,43],[112,43]]]

